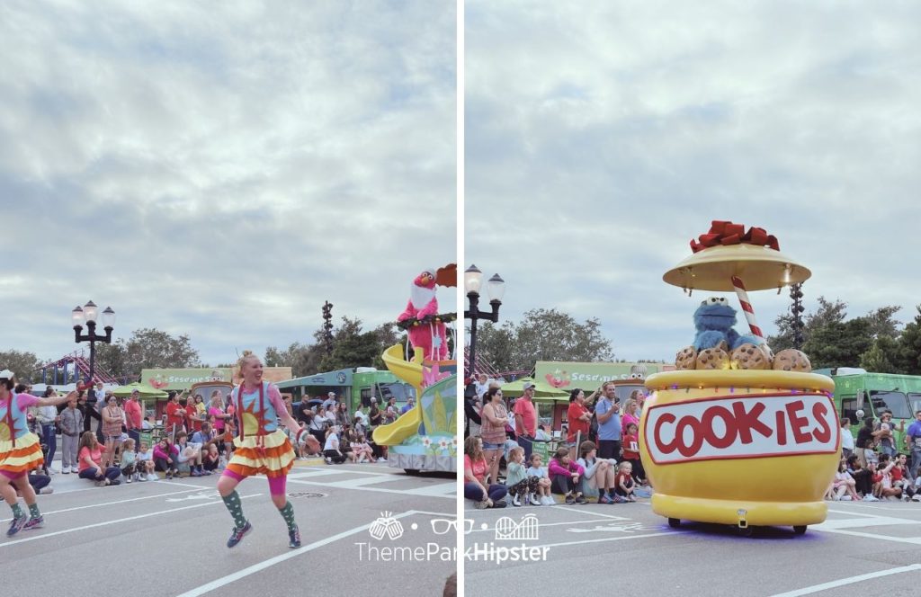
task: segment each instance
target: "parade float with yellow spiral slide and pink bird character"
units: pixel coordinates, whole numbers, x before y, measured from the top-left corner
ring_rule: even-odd
[[[373,439],[388,447],[390,466],[409,474],[457,471],[457,360],[448,342],[457,314],[438,313],[439,286],[457,286],[456,265],[416,276],[406,309],[397,318],[409,334],[411,349],[393,345],[383,354],[387,369],[414,387],[417,400],[396,421],[377,427]]]

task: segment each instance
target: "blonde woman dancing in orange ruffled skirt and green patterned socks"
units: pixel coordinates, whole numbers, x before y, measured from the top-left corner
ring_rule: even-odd
[[[239,544],[252,530],[250,521],[243,516],[236,490],[239,482],[252,474],[268,477],[272,501],[287,524],[288,547],[300,547],[294,507],[285,493],[287,473],[294,465],[296,454],[287,434],[277,423],[280,417],[287,428],[297,429],[297,421],[288,414],[278,388],[262,381],[262,361],[249,350],[243,351],[239,359],[239,375],[243,381],[230,396],[230,404],[234,405],[239,421],[239,436],[234,439],[237,450],[217,481],[217,491],[236,523],[227,539],[227,547]]]

